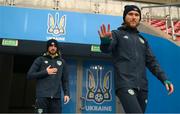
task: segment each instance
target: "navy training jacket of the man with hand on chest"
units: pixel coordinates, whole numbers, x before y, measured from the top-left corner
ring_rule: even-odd
[[[48,75],[46,68],[56,67],[58,72]],[[36,97],[60,98],[61,88],[64,95],[69,96],[69,80],[65,61],[59,56],[51,58],[49,55],[35,59],[27,73],[28,79],[36,79]]]

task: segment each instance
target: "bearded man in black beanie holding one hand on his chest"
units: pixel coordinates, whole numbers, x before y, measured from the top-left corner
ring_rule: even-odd
[[[35,108],[38,113],[61,112],[61,88],[64,103],[68,103],[69,80],[65,61],[61,58],[58,42],[47,41],[47,51],[37,57],[27,73],[28,79],[36,79]]]

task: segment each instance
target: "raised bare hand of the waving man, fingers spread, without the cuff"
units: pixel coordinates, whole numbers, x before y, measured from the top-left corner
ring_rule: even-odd
[[[108,24],[108,30],[106,31],[106,26],[102,24],[101,31],[98,30],[98,34],[100,38],[110,38],[112,39],[112,33],[110,31],[110,24]]]

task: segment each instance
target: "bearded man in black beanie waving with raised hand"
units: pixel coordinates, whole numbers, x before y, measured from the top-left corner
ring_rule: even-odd
[[[103,24],[98,31],[100,49],[111,53],[115,69],[115,91],[126,113],[144,113],[148,98],[146,67],[173,93],[173,84],[160,68],[148,42],[139,34],[137,26],[141,11],[135,5],[126,5],[123,23],[117,30],[106,30]]]

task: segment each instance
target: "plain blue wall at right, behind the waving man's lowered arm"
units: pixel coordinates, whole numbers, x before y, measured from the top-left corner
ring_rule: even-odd
[[[175,91],[168,96],[165,87],[148,71],[149,101],[148,113],[179,113],[180,112],[180,47],[170,41],[142,33],[156,55],[158,62],[169,79],[173,82]]]

